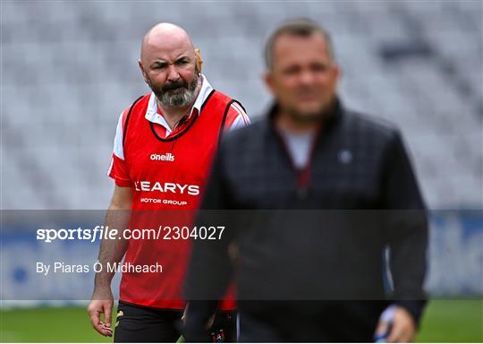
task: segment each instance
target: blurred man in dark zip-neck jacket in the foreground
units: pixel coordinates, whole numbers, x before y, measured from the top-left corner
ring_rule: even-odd
[[[208,300],[223,295],[235,262],[241,341],[413,340],[427,221],[400,133],[343,107],[318,24],[281,25],[266,62],[274,105],[226,139],[202,202],[230,215],[201,213],[199,224],[231,230],[193,248],[185,337],[204,339],[216,306]]]

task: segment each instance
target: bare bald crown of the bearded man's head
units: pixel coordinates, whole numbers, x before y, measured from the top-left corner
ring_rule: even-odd
[[[177,25],[169,22],[160,22],[146,32],[142,39],[140,60],[143,62],[146,56],[153,51],[174,51],[184,49],[194,55],[194,45],[188,33]]]

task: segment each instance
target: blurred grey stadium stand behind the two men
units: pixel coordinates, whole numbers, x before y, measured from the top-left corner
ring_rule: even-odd
[[[269,30],[309,17],[333,34],[348,106],[399,125],[432,209],[483,204],[479,1],[2,1],[2,209],[103,209],[117,117],[148,88],[140,39],[191,33],[204,73],[256,117]]]

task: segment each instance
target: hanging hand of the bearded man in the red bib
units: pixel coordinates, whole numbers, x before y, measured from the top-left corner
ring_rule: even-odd
[[[111,318],[114,307],[114,297],[111,288],[103,288],[94,291],[92,300],[88,306],[88,314],[92,327],[106,337],[112,337]],[[101,322],[101,314],[104,314],[104,322]]]

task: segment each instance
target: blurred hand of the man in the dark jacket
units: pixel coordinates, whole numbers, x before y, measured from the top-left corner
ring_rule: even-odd
[[[408,343],[414,340],[416,336],[416,325],[411,314],[397,305],[390,306],[381,315],[375,336],[384,335],[388,330],[389,333],[386,336],[388,343]]]

